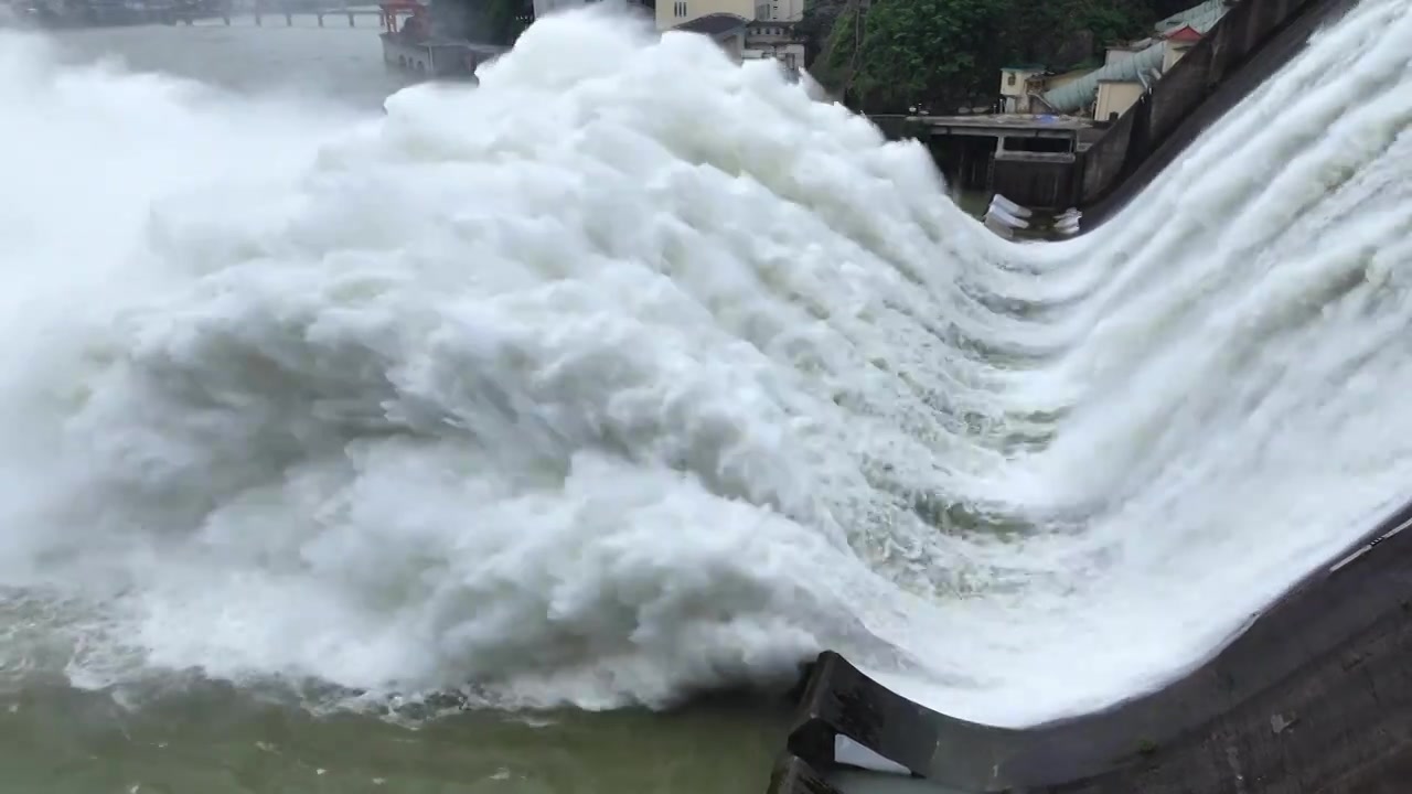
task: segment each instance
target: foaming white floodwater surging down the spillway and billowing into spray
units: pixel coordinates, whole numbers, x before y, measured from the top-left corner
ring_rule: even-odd
[[[603,13],[371,119],[0,34],[0,106],[7,685],[655,706],[836,648],[1024,725],[1412,496],[1412,0],[1049,246]]]

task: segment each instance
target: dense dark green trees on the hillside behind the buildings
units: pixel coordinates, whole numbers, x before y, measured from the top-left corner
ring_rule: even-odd
[[[1003,65],[1083,65],[1196,1],[874,0],[860,14],[857,0],[818,0],[806,24],[832,20],[810,72],[868,112],[991,105]]]

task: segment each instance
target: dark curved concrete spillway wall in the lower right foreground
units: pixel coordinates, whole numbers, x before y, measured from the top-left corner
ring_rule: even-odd
[[[844,736],[953,791],[1404,794],[1412,790],[1408,526],[1412,503],[1185,678],[1029,729],[936,713],[825,653],[771,791],[840,790],[830,773]]]

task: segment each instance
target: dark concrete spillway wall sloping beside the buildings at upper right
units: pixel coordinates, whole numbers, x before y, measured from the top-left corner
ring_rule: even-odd
[[[1084,229],[1142,191],[1207,127],[1289,62],[1322,24],[1356,0],[1240,0],[1079,165]]]

